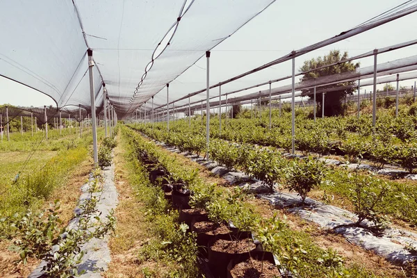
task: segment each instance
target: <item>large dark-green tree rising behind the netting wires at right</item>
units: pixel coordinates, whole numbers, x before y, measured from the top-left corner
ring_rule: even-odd
[[[332,63],[337,63],[341,60],[347,59],[347,51],[341,54],[339,50],[331,50],[329,54],[318,57],[312,58],[311,60],[304,61],[304,65],[300,68],[300,72],[306,72],[308,70],[314,70],[318,67],[322,67],[324,65],[330,65]],[[331,76],[333,74],[342,74],[345,72],[354,72],[359,67],[359,63],[352,63],[352,62],[344,62],[337,65],[332,65],[329,67],[322,68],[320,70],[315,70],[312,72],[307,72],[302,77],[301,81],[308,81],[311,79],[318,79],[324,76]],[[342,88],[347,85],[354,85],[352,88]],[[346,95],[353,95],[353,92],[356,91],[356,86],[354,81],[345,82],[345,83],[338,83],[334,85],[326,85],[320,86],[317,90],[324,90],[327,89],[334,89],[334,88],[341,88],[340,90],[332,90],[331,92],[325,95],[325,115],[326,116],[334,116],[334,115],[341,115],[343,113],[343,106],[342,100],[346,97]],[[313,99],[313,88],[309,90],[302,90],[303,95],[308,95],[311,99]],[[316,94],[316,101],[318,103],[317,113],[321,113],[319,111],[322,110],[322,93]]]

